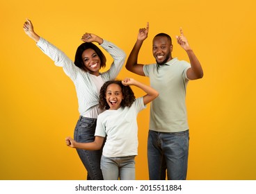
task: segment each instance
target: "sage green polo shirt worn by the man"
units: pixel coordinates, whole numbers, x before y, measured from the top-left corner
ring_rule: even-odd
[[[157,64],[144,65],[145,76],[159,96],[150,105],[150,130],[182,132],[189,129],[186,113],[186,71],[189,62],[173,58],[157,71]]]

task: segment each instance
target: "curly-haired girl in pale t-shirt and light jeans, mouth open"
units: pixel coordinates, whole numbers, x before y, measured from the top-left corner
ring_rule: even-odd
[[[129,85],[139,87],[147,93],[135,100],[134,92]],[[158,92],[152,87],[131,78],[121,81],[106,82],[100,90],[99,107],[106,109],[99,114],[95,131],[95,141],[78,143],[71,137],[65,139],[72,148],[99,150],[104,144],[101,168],[104,180],[134,180],[135,162],[138,155],[138,126],[136,117]]]

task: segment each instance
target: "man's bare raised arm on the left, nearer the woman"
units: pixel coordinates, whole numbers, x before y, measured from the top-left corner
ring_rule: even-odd
[[[150,29],[150,26],[147,22],[147,28],[140,28],[138,30],[137,41],[134,45],[134,48],[132,48],[131,53],[129,54],[129,58],[127,59],[127,62],[125,65],[128,71],[131,71],[141,76],[145,76],[145,73],[143,71],[143,64],[138,64],[138,53],[141,50],[141,46],[144,40],[147,38],[149,29]]]

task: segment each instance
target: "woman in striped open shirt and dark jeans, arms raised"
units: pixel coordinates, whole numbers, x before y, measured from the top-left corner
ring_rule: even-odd
[[[104,82],[116,78],[125,62],[125,53],[111,42],[86,33],[81,38],[84,43],[77,48],[74,62],[72,62],[63,51],[36,34],[29,19],[26,20],[23,28],[26,35],[36,42],[42,52],[48,55],[56,66],[63,67],[65,74],[74,82],[80,114],[74,130],[74,139],[77,142],[93,142],[97,116],[102,112],[98,108],[99,90]],[[106,58],[92,42],[97,42],[114,59],[109,71],[99,73],[99,69],[106,66]],[[103,179],[99,166],[102,151],[77,149],[77,152],[88,172],[87,179]]]

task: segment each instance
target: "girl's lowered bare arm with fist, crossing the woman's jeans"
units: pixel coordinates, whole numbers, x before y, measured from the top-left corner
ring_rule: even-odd
[[[83,150],[100,150],[102,148],[104,137],[103,136],[95,136],[95,141],[90,143],[79,143],[74,141],[70,136],[67,136],[65,139],[66,145],[70,146],[70,148],[78,148]]]

